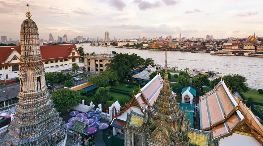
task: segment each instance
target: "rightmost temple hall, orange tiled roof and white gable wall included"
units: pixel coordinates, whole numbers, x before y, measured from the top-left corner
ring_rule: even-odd
[[[199,97],[200,129],[212,131],[219,145],[262,145],[263,126],[242,101],[221,79],[213,90]]]

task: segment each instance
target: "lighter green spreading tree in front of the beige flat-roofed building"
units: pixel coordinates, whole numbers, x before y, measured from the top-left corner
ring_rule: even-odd
[[[89,77],[88,83],[94,84],[97,87],[103,86],[107,87],[110,83],[110,81],[114,81],[118,79],[118,75],[116,71],[107,68],[105,71],[100,71],[99,75],[96,75],[95,77]]]

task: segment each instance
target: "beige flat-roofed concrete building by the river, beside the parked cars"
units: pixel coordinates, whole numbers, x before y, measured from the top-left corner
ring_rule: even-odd
[[[87,71],[93,73],[105,71],[107,68],[105,67],[105,64],[110,63],[113,56],[113,54],[98,54],[84,56],[84,66],[87,68]]]

